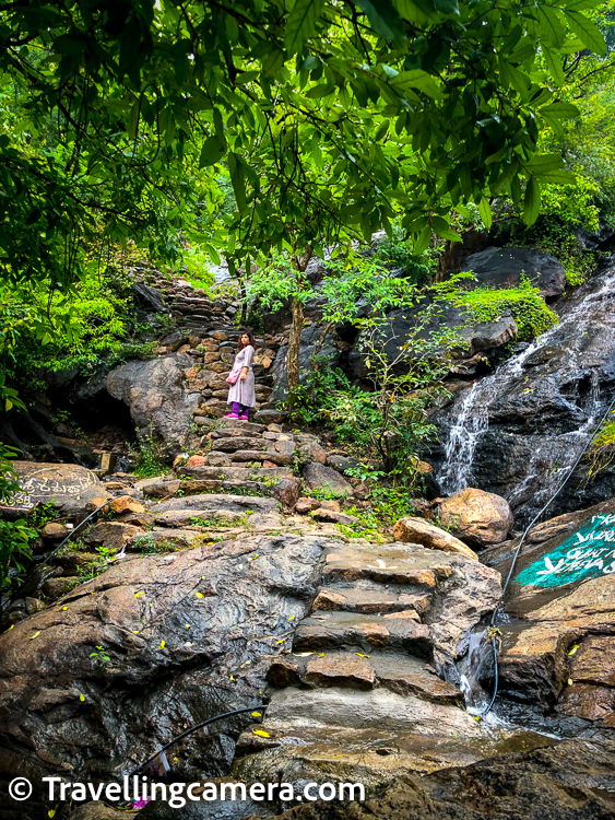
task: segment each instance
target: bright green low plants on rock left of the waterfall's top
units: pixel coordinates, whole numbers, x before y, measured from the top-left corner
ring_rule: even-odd
[[[505,311],[517,323],[518,341],[532,341],[557,324],[558,318],[524,277],[519,288],[476,288],[456,300],[475,321],[496,321]]]

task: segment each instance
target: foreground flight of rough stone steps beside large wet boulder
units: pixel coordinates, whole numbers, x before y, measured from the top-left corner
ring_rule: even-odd
[[[308,617],[269,667],[270,705],[240,736],[234,776],[369,785],[466,765],[489,745],[506,751],[506,729],[477,723],[434,668],[452,668],[497,588],[465,557],[332,543]]]

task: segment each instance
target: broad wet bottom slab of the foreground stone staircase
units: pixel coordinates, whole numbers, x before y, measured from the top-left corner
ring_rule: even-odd
[[[268,737],[256,730],[267,731]],[[544,745],[544,738],[541,741],[530,731],[521,741],[523,749]],[[409,771],[465,766],[515,751],[519,742],[519,735],[477,723],[457,705],[413,694],[380,687],[367,691],[289,687],[274,691],[263,723],[249,726],[239,737],[237,754],[248,757],[235,764],[233,775],[262,776],[262,760],[255,752],[267,749],[269,771],[280,781],[318,781],[322,772],[334,772],[340,781],[375,785]]]

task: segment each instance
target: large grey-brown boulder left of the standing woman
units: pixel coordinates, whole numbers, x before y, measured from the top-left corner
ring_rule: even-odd
[[[159,436],[169,455],[181,452],[201,398],[185,377],[185,370],[191,365],[190,356],[173,353],[128,362],[107,376],[107,390],[128,405],[138,434]]]

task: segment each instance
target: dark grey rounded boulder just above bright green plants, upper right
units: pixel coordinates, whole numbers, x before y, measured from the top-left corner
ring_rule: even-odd
[[[463,270],[471,270],[481,285],[490,288],[518,288],[524,276],[546,298],[560,296],[566,289],[561,262],[539,248],[488,247],[469,256]]]

